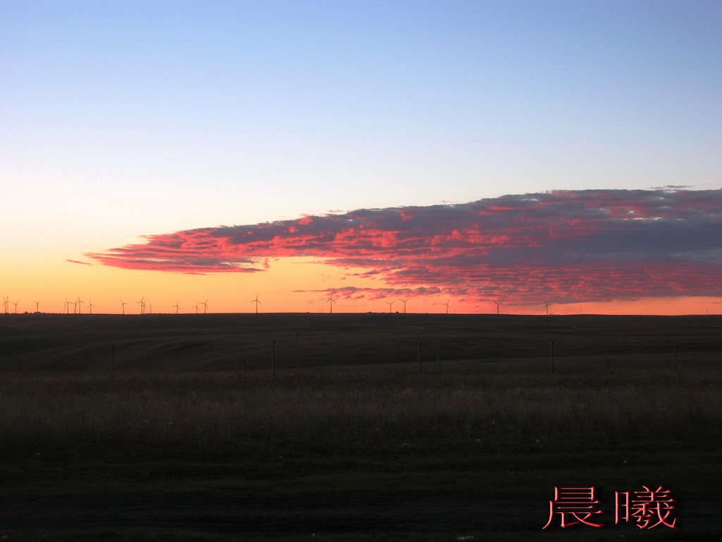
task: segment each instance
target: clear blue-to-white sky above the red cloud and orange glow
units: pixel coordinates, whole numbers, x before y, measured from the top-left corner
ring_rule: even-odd
[[[0,0],[6,254],[722,185],[719,1]],[[28,256],[29,257],[29,256]]]

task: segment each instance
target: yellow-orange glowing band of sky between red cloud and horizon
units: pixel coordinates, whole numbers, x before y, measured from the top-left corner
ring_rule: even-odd
[[[348,272],[363,270],[340,269],[319,263],[313,258],[278,259],[269,262],[266,272],[253,274],[183,275],[157,271],[131,271],[103,265],[80,265],[60,262],[51,270],[26,269],[24,272],[0,277],[6,286],[0,292],[11,302],[9,311],[34,312],[40,301],[40,312],[65,312],[65,299],[80,298],[83,314],[93,304],[93,314],[119,314],[121,300],[126,301],[126,314],[139,314],[138,302],[143,298],[147,312],[173,314],[175,304],[181,314],[193,314],[196,304],[207,301],[209,313],[252,313],[251,301],[258,294],[259,313],[329,311],[329,296],[336,303],[334,313],[388,312],[386,301],[393,301],[391,310],[402,312],[401,298],[408,298],[406,311],[416,314],[444,314],[449,302],[452,314],[495,314],[492,301],[472,301],[464,296],[445,293],[427,295],[385,295],[387,285],[380,278],[357,276],[353,283],[360,288],[356,296],[343,295],[349,283]],[[361,288],[367,288],[362,291]],[[339,292],[334,294],[333,292]],[[373,291],[377,293],[372,294]],[[69,312],[72,314],[73,305]],[[203,306],[199,306],[203,312]],[[0,304],[0,313],[4,305]],[[544,301],[539,304],[508,304],[501,300],[500,314],[544,314]],[[549,304],[550,315],[571,314],[722,314],[722,297],[679,296],[674,298],[640,298],[631,301],[583,302]]]

